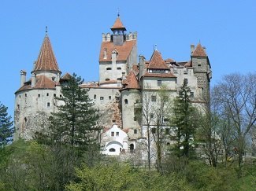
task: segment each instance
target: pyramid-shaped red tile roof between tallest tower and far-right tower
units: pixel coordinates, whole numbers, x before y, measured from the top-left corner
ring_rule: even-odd
[[[161,57],[161,53],[158,50],[154,50],[152,57],[150,58],[150,64],[147,68],[149,69],[169,69],[168,65],[165,64],[165,61]]]

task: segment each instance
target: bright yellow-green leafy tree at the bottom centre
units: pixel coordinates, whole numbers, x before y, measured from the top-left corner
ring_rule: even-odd
[[[135,190],[141,184],[139,174],[128,163],[83,165],[76,175],[80,181],[67,185],[67,190]]]

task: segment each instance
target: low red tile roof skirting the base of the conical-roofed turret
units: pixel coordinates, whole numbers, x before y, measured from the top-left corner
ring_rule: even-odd
[[[31,82],[31,79],[28,82]],[[57,85],[56,82],[47,78],[45,75],[38,75],[36,76],[35,86],[32,87],[31,83],[29,83],[29,85],[20,87],[20,89],[17,90],[17,92],[23,91],[23,90],[32,90],[32,89],[54,89],[56,85]]]

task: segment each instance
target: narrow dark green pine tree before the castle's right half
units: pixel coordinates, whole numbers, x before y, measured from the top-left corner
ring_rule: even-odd
[[[184,80],[180,87],[179,94],[175,99],[173,107],[172,126],[175,132],[176,145],[174,151],[176,156],[188,157],[191,152],[191,139],[195,135],[196,115],[195,108],[191,105],[191,90]],[[181,149],[183,148],[183,149]]]

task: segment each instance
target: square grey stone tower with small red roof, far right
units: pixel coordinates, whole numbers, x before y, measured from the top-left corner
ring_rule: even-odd
[[[191,64],[197,78],[198,88],[201,88],[202,99],[209,103],[212,72],[206,50],[200,43],[196,47],[191,45]]]

